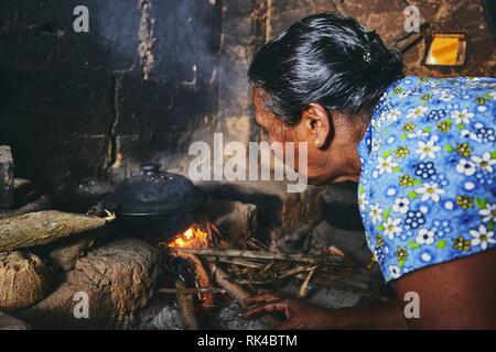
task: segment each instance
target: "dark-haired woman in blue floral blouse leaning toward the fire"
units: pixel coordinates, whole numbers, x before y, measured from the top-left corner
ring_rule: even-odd
[[[248,318],[282,311],[282,329],[496,328],[496,79],[402,70],[374,32],[330,13],[255,55],[257,124],[272,141],[308,142],[310,183],[359,183],[367,242],[397,299],[332,311],[266,293],[247,300],[257,305]],[[403,315],[410,292],[420,318]]]

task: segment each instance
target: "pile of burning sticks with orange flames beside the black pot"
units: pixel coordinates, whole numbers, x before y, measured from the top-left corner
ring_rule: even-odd
[[[227,294],[241,308],[247,309],[249,307],[245,299],[251,296],[249,288],[252,286],[274,289],[274,285],[282,280],[300,278],[302,285],[299,297],[304,298],[319,273],[346,277],[355,270],[351,258],[338,249],[333,248],[333,251],[325,251],[325,254],[320,255],[283,253],[250,239],[250,250],[236,250],[228,248],[220,234],[213,233],[212,229],[208,221],[202,226],[192,224],[166,243],[172,257],[183,258],[194,267],[197,287],[176,286],[159,292],[176,294],[177,301],[186,296],[198,295],[204,307],[213,306],[215,294]],[[180,305],[183,304],[184,301]],[[181,311],[183,317],[187,314],[184,307]],[[188,319],[191,320],[191,314],[185,317],[185,320]],[[260,321],[268,328],[279,324],[278,319],[270,315],[262,317]]]

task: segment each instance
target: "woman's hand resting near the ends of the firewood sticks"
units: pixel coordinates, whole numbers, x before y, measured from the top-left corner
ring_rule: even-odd
[[[256,305],[247,310],[246,319],[252,319],[267,312],[282,312],[287,320],[277,326],[274,328],[277,330],[333,328],[333,317],[330,310],[299,299],[285,298],[273,293],[262,293],[246,298],[245,302]]]

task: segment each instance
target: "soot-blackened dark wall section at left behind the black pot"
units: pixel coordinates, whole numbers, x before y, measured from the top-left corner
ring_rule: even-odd
[[[76,33],[77,6],[89,32]],[[219,3],[0,1],[1,143],[37,180],[187,153],[218,111]]]

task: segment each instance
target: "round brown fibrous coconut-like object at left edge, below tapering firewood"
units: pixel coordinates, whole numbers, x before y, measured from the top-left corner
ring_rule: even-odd
[[[51,274],[40,257],[29,252],[0,253],[0,309],[24,308],[43,299]]]

